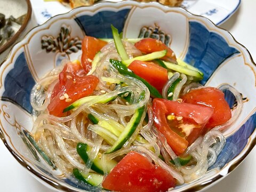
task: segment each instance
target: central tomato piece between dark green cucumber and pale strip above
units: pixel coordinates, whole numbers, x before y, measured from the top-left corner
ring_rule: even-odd
[[[133,61],[128,68],[162,93],[163,86],[168,81],[167,69],[155,63],[139,60]]]

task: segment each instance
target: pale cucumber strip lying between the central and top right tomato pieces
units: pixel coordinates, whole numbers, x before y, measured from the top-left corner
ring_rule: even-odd
[[[154,59],[159,59],[162,58],[166,55],[167,50],[163,50],[163,51],[156,51],[153,53],[149,53],[146,55],[142,55],[142,56],[138,56],[132,59],[128,59],[128,60],[123,60],[122,63],[125,66],[129,66],[134,60],[139,60],[139,61],[152,61]]]

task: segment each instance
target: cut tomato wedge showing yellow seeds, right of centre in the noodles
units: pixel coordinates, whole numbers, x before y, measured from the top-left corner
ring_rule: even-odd
[[[156,98],[153,100],[153,114],[157,129],[174,153],[180,155],[202,133],[213,109]]]

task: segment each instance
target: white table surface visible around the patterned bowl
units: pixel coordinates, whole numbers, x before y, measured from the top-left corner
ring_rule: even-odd
[[[243,44],[256,61],[256,25],[253,17],[256,1],[241,2],[238,11],[220,27],[227,29],[235,39]],[[53,191],[38,182],[29,174],[0,142],[0,191]],[[256,189],[256,147],[245,160],[227,177],[216,185],[207,189],[207,192],[252,192]]]

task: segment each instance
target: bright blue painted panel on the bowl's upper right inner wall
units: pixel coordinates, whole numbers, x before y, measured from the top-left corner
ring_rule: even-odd
[[[219,34],[207,30],[201,23],[189,22],[189,47],[185,61],[204,73],[202,84],[223,61],[237,53],[239,51],[230,47]]]

